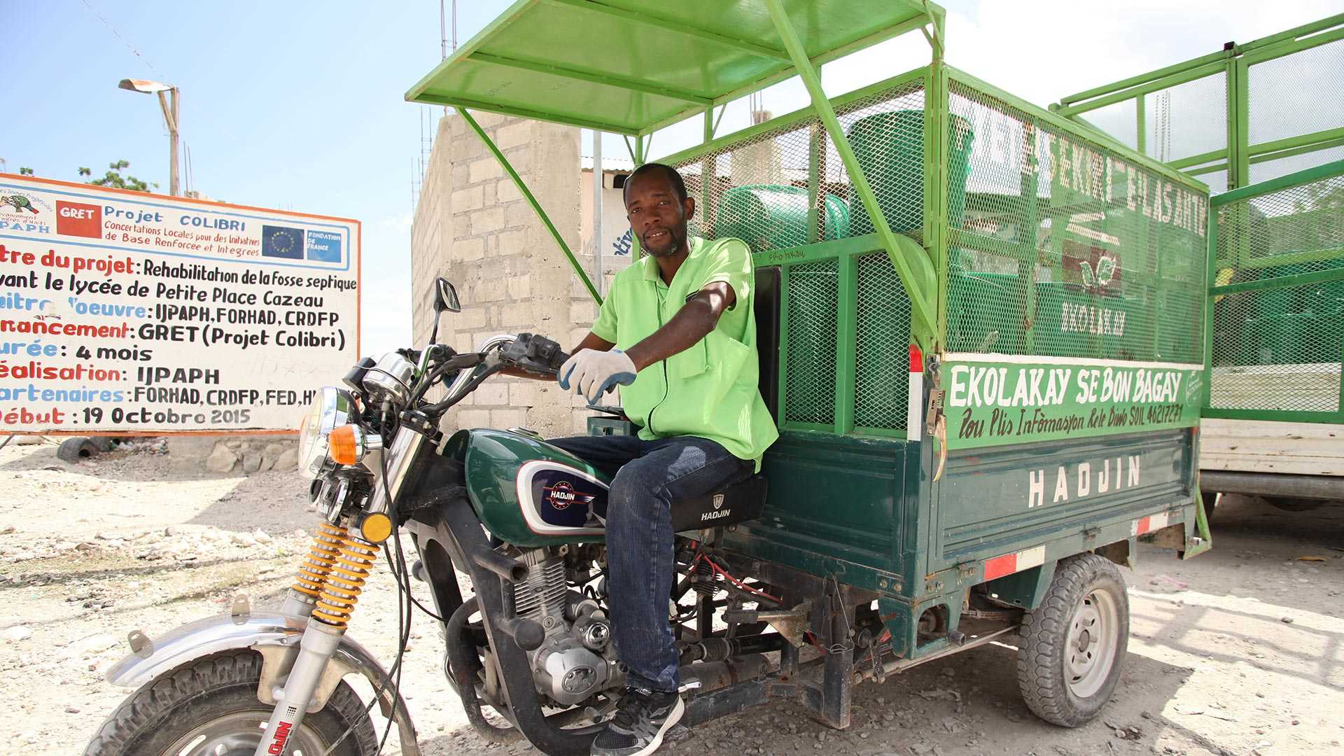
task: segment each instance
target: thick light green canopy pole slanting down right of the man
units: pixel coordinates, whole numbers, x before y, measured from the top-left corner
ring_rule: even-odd
[[[793,58],[793,66],[798,71],[798,77],[808,87],[813,109],[817,112],[817,116],[821,118],[821,124],[831,135],[831,141],[835,143],[836,152],[840,153],[840,161],[844,163],[845,171],[849,174],[849,180],[853,183],[855,192],[859,195],[859,199],[863,200],[863,207],[872,218],[872,225],[878,231],[878,238],[882,239],[882,245],[887,250],[887,257],[900,274],[900,284],[910,296],[910,313],[919,326],[918,328],[911,328],[911,336],[915,336],[917,342],[919,342],[918,335],[937,334],[937,320],[934,319],[933,307],[929,304],[929,292],[922,291],[918,285],[919,278],[915,277],[915,272],[911,268],[910,261],[905,258],[900,245],[896,241],[896,234],[891,230],[891,226],[887,223],[887,218],[882,214],[882,206],[878,204],[878,196],[872,192],[872,187],[868,186],[868,179],[864,176],[863,168],[859,167],[859,159],[855,157],[853,149],[845,139],[844,129],[840,126],[840,120],[836,118],[835,109],[831,108],[831,101],[827,98],[825,90],[821,89],[821,78],[817,77],[816,69],[812,67],[812,62],[808,59],[808,54],[802,48],[802,42],[798,39],[798,34],[789,23],[789,16],[784,12],[784,5],[780,0],[765,0],[765,5],[770,11],[774,28],[780,32],[780,39],[784,42],[785,50],[788,50],[789,56]],[[921,346],[927,347],[925,343],[921,343]]]

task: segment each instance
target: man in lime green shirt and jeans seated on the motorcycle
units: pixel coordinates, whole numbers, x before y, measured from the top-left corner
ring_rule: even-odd
[[[616,276],[593,331],[556,379],[589,404],[625,386],[622,406],[640,433],[551,441],[614,475],[607,592],[629,673],[594,756],[652,753],[684,710],[668,623],[671,503],[747,478],[778,437],[758,387],[746,243],[688,238],[695,199],[681,176],[659,163],[626,179],[625,213],[645,257]]]

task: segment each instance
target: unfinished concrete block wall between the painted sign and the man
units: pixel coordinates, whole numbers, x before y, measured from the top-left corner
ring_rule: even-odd
[[[491,113],[473,114],[519,172],[587,270],[579,231],[579,132]],[[583,254],[586,252],[587,254]],[[453,281],[462,312],[445,313],[441,343],[460,351],[495,334],[543,334],[571,350],[595,309],[564,253],[504,169],[456,114],[438,125],[411,225],[413,332],[426,343],[435,276]],[[445,428],[521,425],[582,434],[583,401],[551,382],[491,378],[445,418]]]

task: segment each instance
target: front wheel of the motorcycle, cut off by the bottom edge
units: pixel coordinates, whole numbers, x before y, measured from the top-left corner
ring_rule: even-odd
[[[85,756],[251,756],[271,708],[257,698],[261,656],[210,656],[145,683],[102,724]],[[378,736],[344,682],[289,739],[290,756],[374,756]]]

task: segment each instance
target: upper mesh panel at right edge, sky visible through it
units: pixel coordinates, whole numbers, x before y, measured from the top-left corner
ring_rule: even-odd
[[[1246,70],[1250,144],[1340,125],[1340,109],[1344,108],[1344,39],[1254,63]],[[1322,157],[1312,164],[1327,161]]]

